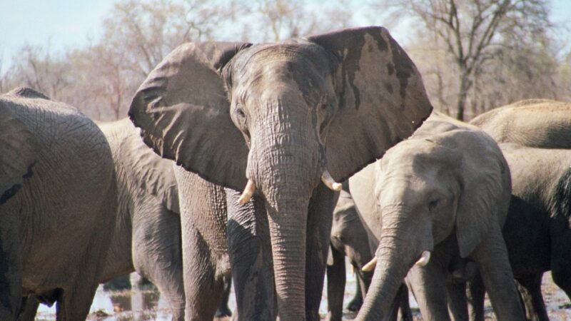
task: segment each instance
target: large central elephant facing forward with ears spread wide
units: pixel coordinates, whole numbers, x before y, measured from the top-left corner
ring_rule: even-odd
[[[180,188],[203,184],[196,177],[226,188],[238,318],[261,308],[298,321],[319,318],[336,182],[410,136],[432,109],[413,61],[386,29],[370,26],[271,44],[183,44],[151,71],[128,113],[148,146],[188,171],[176,170],[181,204],[198,202]],[[221,192],[205,190],[211,200]],[[245,206],[255,212],[243,215]],[[188,220],[182,222],[185,260],[192,253],[184,244],[198,242],[185,228],[202,238],[214,233]],[[248,253],[241,238],[261,252]],[[210,318],[216,305],[201,300],[223,288],[228,261],[203,260],[185,263],[187,320]],[[259,266],[270,271],[262,270],[268,277],[251,291],[245,280]],[[186,272],[191,277],[203,268],[215,272],[186,281]],[[216,295],[205,298],[211,289]]]

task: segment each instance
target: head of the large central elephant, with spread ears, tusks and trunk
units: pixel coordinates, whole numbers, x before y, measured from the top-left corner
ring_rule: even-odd
[[[432,106],[386,29],[277,44],[183,44],[149,74],[129,115],[164,158],[266,200],[281,317],[302,320],[308,204],[410,136]]]

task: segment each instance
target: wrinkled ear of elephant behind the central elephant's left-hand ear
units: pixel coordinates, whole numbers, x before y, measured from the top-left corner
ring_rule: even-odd
[[[131,135],[121,141],[120,155],[128,162],[129,180],[136,188],[156,196],[161,203],[175,213],[178,208],[178,188],[174,177],[173,161],[161,158],[141,141],[139,128],[131,127]]]

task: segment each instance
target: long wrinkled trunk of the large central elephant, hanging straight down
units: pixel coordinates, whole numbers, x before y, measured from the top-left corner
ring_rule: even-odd
[[[266,198],[280,320],[297,321],[305,320],[308,206],[324,160],[312,133],[281,129],[253,137],[248,178]]]

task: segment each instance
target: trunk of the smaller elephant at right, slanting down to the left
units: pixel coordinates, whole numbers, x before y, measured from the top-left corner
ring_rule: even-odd
[[[373,280],[355,320],[385,320],[393,310],[398,289],[415,261],[412,255],[408,255],[413,251],[400,244],[402,240],[397,233],[388,233],[383,230]]]

